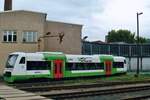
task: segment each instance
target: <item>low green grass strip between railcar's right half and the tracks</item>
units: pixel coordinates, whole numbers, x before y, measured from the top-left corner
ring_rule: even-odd
[[[135,77],[135,73],[128,73],[118,76],[103,76],[97,78],[87,78],[87,79],[76,79],[71,80],[74,84],[88,84],[88,83],[98,83],[98,82],[134,82],[134,81],[150,81],[150,74],[139,74],[138,77]],[[66,82],[68,83],[68,81]]]

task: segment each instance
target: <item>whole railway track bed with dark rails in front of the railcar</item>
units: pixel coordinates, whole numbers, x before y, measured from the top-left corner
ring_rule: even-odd
[[[31,83],[15,83],[8,84],[17,89],[36,93],[37,95],[53,98],[53,99],[66,99],[66,98],[79,98],[85,96],[99,96],[111,95],[117,93],[130,93],[134,91],[150,90],[150,80],[145,81],[130,81],[130,82],[107,82],[97,79],[91,83],[78,82],[76,80],[60,80],[60,81],[41,81]],[[143,84],[144,86],[137,86]],[[84,85],[82,85],[84,84]],[[146,85],[145,85],[146,84]],[[133,87],[123,87],[132,85]],[[136,86],[136,87],[135,87]],[[107,87],[107,88],[106,88]],[[110,88],[112,87],[112,88]],[[113,88],[120,87],[120,88]],[[149,96],[130,97],[122,100],[140,100],[148,98]]]

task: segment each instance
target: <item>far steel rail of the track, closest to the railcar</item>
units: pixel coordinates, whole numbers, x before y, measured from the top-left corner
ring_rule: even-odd
[[[17,85],[12,85],[15,88],[18,89],[35,89],[35,88],[44,88],[44,87],[51,87],[53,89],[59,89],[61,87],[69,87],[69,86],[74,86],[74,87],[86,87],[86,86],[99,86],[99,87],[103,87],[103,86],[115,86],[115,85],[129,85],[129,84],[141,84],[141,83],[150,83],[150,81],[131,81],[131,82],[101,82],[101,81],[97,81],[95,83],[61,83],[61,84],[51,84],[50,82],[40,82],[40,83],[29,83],[29,84],[17,84]],[[82,85],[84,84],[84,85]]]

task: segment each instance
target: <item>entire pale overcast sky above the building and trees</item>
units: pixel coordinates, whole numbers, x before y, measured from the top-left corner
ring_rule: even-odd
[[[22,9],[47,13],[48,20],[81,24],[82,37],[91,41],[104,41],[112,29],[136,32],[136,13],[143,12],[140,36],[150,38],[150,0],[13,0],[13,10]]]

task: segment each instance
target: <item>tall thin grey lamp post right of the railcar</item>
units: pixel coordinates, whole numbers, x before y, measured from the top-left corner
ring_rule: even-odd
[[[142,15],[143,12],[140,13],[136,13],[137,15],[137,70],[136,70],[136,77],[138,77],[139,75],[139,56],[140,56],[140,52],[139,52],[139,15]]]

